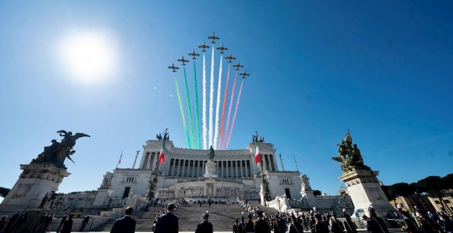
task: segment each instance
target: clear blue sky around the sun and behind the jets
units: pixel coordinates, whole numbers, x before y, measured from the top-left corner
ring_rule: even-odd
[[[252,74],[231,149],[244,149],[257,130],[285,169],[295,169],[294,155],[313,188],[334,194],[342,182],[331,158],[349,129],[384,184],[447,175],[452,8],[449,1],[2,1],[0,186],[12,187],[19,164],[60,139],[57,130],[91,135],[78,140],[61,192],[96,189],[123,150],[119,167],[132,167],[135,151],[165,127],[187,147],[167,66],[213,31]],[[65,38],[87,32],[106,36],[117,56],[102,82],[72,77],[60,55]]]

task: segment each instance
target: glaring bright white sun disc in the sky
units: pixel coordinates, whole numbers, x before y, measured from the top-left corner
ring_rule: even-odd
[[[111,38],[100,32],[67,36],[60,45],[69,75],[83,83],[105,82],[115,74],[117,51]]]

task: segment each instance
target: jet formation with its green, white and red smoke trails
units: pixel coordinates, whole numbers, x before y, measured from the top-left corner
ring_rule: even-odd
[[[191,101],[190,101],[190,95],[189,95],[189,86],[187,85],[187,71],[185,69],[185,66],[189,63],[189,60],[186,60],[184,56],[181,56],[180,59],[177,61],[180,62],[180,64],[184,67],[183,72],[184,72],[184,81],[185,81],[185,90],[186,90],[186,97],[187,97],[187,112],[189,113],[189,125],[185,122],[185,110],[183,107],[182,103],[182,98],[181,95],[179,94],[179,86],[178,86],[178,80],[176,78],[176,73],[179,69],[178,66],[175,66],[174,63],[172,63],[171,66],[168,66],[168,69],[174,73],[174,79],[176,83],[176,91],[178,93],[178,102],[181,108],[181,116],[183,118],[183,126],[185,130],[185,135],[187,139],[187,145],[189,149],[208,149],[211,145],[213,146],[214,149],[228,149],[229,146],[229,140],[231,139],[231,134],[233,132],[233,127],[235,123],[235,116],[237,113],[237,108],[240,103],[240,97],[242,94],[242,86],[244,85],[244,80],[246,77],[250,76],[247,71],[244,70],[244,72],[240,73],[240,70],[244,68],[244,66],[237,61],[237,64],[233,64],[233,67],[231,67],[231,63],[236,60],[236,58],[232,55],[232,53],[229,53],[229,56],[225,56],[224,59],[227,60],[228,65],[228,70],[227,70],[227,80],[224,83],[224,97],[223,97],[223,105],[222,105],[222,112],[220,112],[220,92],[222,89],[222,63],[223,63],[223,55],[225,51],[228,51],[229,48],[224,45],[224,43],[221,43],[219,47],[216,47],[216,50],[219,51],[220,53],[220,66],[219,66],[219,73],[218,73],[218,79],[215,80],[215,73],[214,71],[214,44],[220,40],[219,36],[216,36],[215,33],[213,33],[211,36],[207,37],[212,46],[209,46],[205,43],[205,41],[202,42],[202,44],[198,45],[198,49],[200,49],[202,53],[202,116],[200,117],[200,110],[199,110],[199,103],[198,103],[198,81],[197,81],[197,73],[196,73],[196,59],[200,56],[200,53],[197,53],[195,49],[192,49],[190,53],[187,53],[187,55],[194,60],[194,93],[195,93],[195,106],[196,106],[196,126],[194,126],[193,119],[191,116],[192,110],[191,110]],[[211,48],[211,79],[209,82],[210,88],[209,88],[209,116],[207,114],[207,68],[206,68],[206,58],[205,58],[205,53],[208,51],[208,49]],[[230,76],[230,71],[231,68],[234,69],[235,75],[234,75],[234,81],[233,81],[233,88],[231,90],[231,93],[229,93],[229,76]],[[235,88],[237,84],[237,75],[240,75],[242,77],[242,82],[240,85],[240,91],[237,95],[236,99],[236,106],[235,110],[233,113],[233,119],[231,120],[231,114],[233,112],[232,106],[233,106],[233,99],[235,97]],[[217,88],[217,101],[216,101],[216,114],[213,113],[213,101],[215,101],[215,98],[213,96],[213,84],[214,82],[217,82],[218,88]],[[229,97],[230,95],[230,97]],[[229,105],[229,110],[226,110],[226,103],[227,99],[230,100],[230,105]],[[228,112],[228,117],[225,121],[225,114]],[[221,116],[221,117],[220,117]],[[209,117],[209,124],[207,123],[207,117]],[[213,123],[213,118],[216,120],[216,124],[214,126]],[[202,123],[200,123],[200,119],[202,119]],[[220,121],[220,125],[219,125]],[[225,127],[226,125],[226,127]],[[202,128],[200,128],[202,127]],[[209,129],[209,134],[208,134],[208,129]],[[189,134],[190,133],[190,134]],[[195,134],[196,133],[196,134]]]

